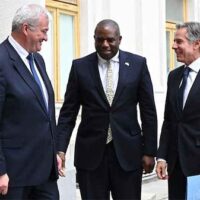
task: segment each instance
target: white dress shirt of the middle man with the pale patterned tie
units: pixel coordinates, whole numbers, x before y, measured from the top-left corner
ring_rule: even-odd
[[[106,73],[107,73],[107,66],[108,61],[101,58],[99,54],[98,55],[98,68],[99,68],[99,74],[101,78],[101,82],[103,85],[103,89],[106,93]],[[113,91],[116,92],[118,79],[119,79],[119,52],[111,59],[109,60],[112,67],[113,72]]]

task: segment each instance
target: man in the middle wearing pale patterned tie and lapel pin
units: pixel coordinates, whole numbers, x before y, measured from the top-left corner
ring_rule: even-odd
[[[58,121],[58,150],[66,152],[82,106],[75,166],[82,199],[140,199],[142,172],[152,172],[157,116],[144,57],[119,50],[118,24],[103,20],[96,52],[72,63]],[[139,104],[142,126],[139,125]]]

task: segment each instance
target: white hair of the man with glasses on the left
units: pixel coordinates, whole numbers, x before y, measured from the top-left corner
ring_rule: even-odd
[[[27,23],[34,29],[39,23],[39,17],[44,15],[49,19],[48,11],[37,4],[26,4],[19,8],[12,21],[12,32],[20,31],[22,25]]]

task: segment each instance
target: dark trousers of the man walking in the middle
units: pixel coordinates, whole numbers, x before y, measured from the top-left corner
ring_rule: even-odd
[[[84,200],[141,199],[142,168],[124,171],[117,160],[113,143],[107,144],[102,162],[95,170],[77,169],[77,180]]]

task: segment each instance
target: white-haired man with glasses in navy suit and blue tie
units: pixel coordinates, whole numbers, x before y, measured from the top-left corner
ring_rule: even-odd
[[[0,199],[59,199],[54,92],[37,53],[47,31],[47,11],[25,5],[0,45]]]

